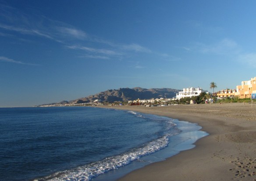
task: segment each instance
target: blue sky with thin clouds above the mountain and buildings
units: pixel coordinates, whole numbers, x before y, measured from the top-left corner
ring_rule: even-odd
[[[256,76],[254,0],[0,0],[0,107]]]

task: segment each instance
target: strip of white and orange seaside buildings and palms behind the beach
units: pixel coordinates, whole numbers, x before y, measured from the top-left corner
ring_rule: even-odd
[[[223,89],[214,92],[217,88],[215,82],[210,83],[210,88],[213,93],[205,91],[199,87],[197,88],[184,88],[176,93],[172,98],[151,98],[151,99],[135,99],[125,101],[107,102],[101,99],[93,100],[92,102],[77,103],[77,102],[64,102],[61,104],[46,104],[40,107],[50,106],[100,106],[100,105],[119,105],[119,106],[172,106],[177,104],[200,104],[200,103],[222,103],[222,102],[249,102],[256,99],[256,77],[248,81],[242,81],[241,85],[237,85],[236,89]]]

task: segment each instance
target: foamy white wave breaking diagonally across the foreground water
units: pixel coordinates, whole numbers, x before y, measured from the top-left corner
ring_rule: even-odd
[[[102,161],[92,162],[68,171],[56,172],[44,178],[35,179],[34,181],[90,181],[100,174],[123,167],[132,161],[138,160],[140,157],[153,154],[167,147],[169,137],[177,135],[178,133],[179,131],[166,134],[163,137],[146,143],[142,147],[134,148],[127,153],[107,157]]]

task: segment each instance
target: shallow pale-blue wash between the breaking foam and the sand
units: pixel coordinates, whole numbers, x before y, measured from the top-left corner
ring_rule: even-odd
[[[125,110],[125,112],[127,111]],[[142,114],[143,117],[145,115],[149,115],[139,112],[136,113],[138,113],[139,115]],[[168,118],[165,117],[164,119]],[[104,174],[100,174],[96,178],[93,178],[93,181],[115,181],[132,171],[145,167],[146,165],[159,161],[164,161],[168,157],[172,157],[183,150],[192,149],[195,147],[194,143],[196,142],[196,140],[199,140],[200,138],[209,135],[208,133],[201,131],[200,129],[202,127],[198,126],[195,123],[189,123],[187,121],[179,120],[172,120],[172,123],[176,124],[175,127],[182,131],[169,137],[169,143],[166,147],[157,150],[154,153],[146,154],[142,157],[139,157],[139,159],[136,159],[135,161],[132,161],[131,163],[124,165],[123,167],[119,167],[118,169],[108,171]]]

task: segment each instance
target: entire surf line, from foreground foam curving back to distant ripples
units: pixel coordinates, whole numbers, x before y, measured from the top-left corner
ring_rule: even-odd
[[[139,160],[139,158],[143,156],[153,154],[156,151],[164,149],[169,143],[169,138],[181,132],[181,130],[176,127],[177,125],[173,123],[173,119],[160,116],[156,117],[154,115],[144,115],[134,111],[128,111],[128,113],[148,119],[149,121],[161,121],[165,125],[163,130],[164,134],[159,138],[151,140],[141,147],[135,147],[126,153],[106,157],[101,161],[92,162],[71,170],[59,171],[34,181],[90,181],[92,178],[95,178],[100,174],[123,167],[130,164],[132,161]]]

